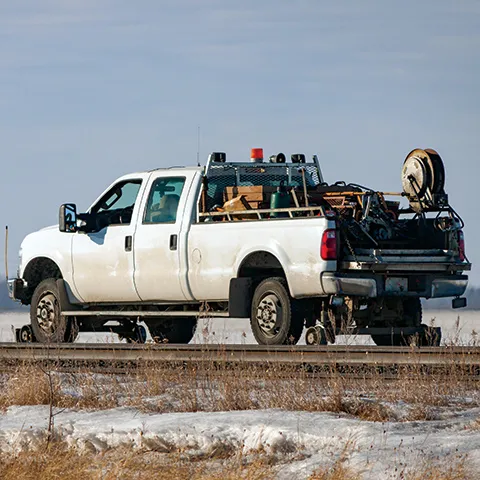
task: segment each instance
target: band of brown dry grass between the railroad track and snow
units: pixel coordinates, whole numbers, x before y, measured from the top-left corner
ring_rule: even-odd
[[[216,358],[187,366],[143,364],[122,375],[66,374],[24,365],[4,376],[0,408],[49,403],[77,409],[132,406],[159,413],[281,408],[385,422],[432,420],[436,408],[462,407],[466,397],[473,399],[468,406],[480,404],[476,381],[451,369],[448,359],[440,372],[425,373],[413,365],[387,373],[388,378],[382,371],[352,378],[335,370],[316,374]],[[398,402],[407,405],[400,418],[392,408]]]

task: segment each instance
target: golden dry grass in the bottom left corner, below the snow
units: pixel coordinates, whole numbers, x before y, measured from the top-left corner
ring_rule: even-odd
[[[261,458],[229,456],[191,461],[180,454],[139,452],[126,448],[102,455],[80,454],[63,443],[0,458],[3,480],[267,480],[274,468]]]

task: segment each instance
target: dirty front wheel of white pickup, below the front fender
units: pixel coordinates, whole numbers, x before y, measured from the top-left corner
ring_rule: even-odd
[[[60,315],[56,279],[42,280],[33,292],[30,304],[33,335],[41,343],[73,342],[77,329],[74,322]]]

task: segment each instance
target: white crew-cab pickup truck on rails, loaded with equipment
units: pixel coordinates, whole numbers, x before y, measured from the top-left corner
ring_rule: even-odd
[[[125,175],[87,213],[62,205],[59,225],[24,239],[9,281],[31,305],[18,339],[142,342],[144,322],[155,341],[188,343],[199,317],[217,316],[250,318],[260,344],[296,343],[304,327],[309,344],[348,332],[438,344],[420,298],[465,306],[471,267],[438,154],[407,157],[401,193],[328,185],[316,156],[261,156],[213,153],[206,167]]]

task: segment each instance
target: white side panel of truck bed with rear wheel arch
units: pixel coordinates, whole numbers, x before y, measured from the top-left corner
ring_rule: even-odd
[[[321,272],[336,269],[335,261],[320,257],[326,228],[335,225],[325,217],[192,225],[188,280],[194,297],[227,300],[230,280],[255,252],[268,252],[279,260],[293,297],[322,295]]]

